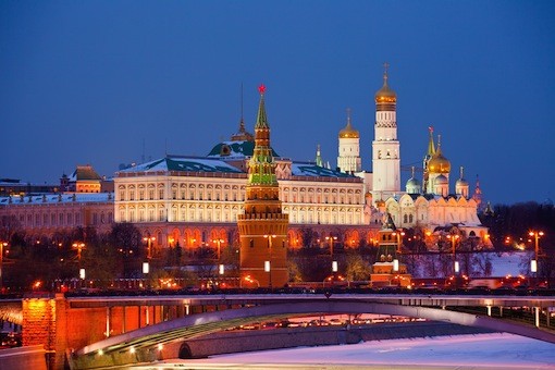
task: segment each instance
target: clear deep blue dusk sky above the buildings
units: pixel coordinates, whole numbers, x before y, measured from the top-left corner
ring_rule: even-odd
[[[252,131],[334,166],[345,110],[371,171],[383,62],[402,164],[432,124],[493,203],[555,199],[553,1],[1,1],[0,177],[57,182],[78,163],[207,155]],[[409,173],[404,173],[403,187]]]

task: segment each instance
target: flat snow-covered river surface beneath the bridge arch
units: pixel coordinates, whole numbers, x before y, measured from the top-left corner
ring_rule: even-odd
[[[316,366],[316,367],[314,367]],[[160,368],[555,369],[555,344],[495,333],[300,347],[208,359],[171,360]],[[153,367],[149,367],[153,369]]]

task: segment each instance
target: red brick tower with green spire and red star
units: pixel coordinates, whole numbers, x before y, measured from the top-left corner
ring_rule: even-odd
[[[275,163],[270,147],[264,91],[255,125],[255,149],[248,162],[245,213],[237,214],[240,242],[240,284],[244,287],[281,287],[288,281],[288,214],[282,212]]]

